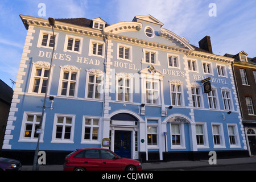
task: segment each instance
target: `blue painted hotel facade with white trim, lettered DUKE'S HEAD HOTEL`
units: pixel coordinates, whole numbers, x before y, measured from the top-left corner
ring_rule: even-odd
[[[48,20],[20,17],[28,33],[5,151],[35,150],[52,53]],[[56,19],[48,92],[54,102],[49,109],[47,98],[39,150],[102,147],[102,139],[110,138],[111,150],[121,147],[127,157],[143,160],[171,159],[179,152],[247,151],[233,59],[191,46],[162,26],[150,15],[113,25],[97,18],[90,26]],[[209,94],[205,78],[212,86]],[[128,131],[128,141],[118,139],[116,131]]]

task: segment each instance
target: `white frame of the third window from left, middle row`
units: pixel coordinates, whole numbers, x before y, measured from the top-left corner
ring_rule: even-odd
[[[93,75],[94,78],[93,78],[93,82],[89,82],[89,76],[90,75]],[[100,76],[101,77],[101,82],[100,83],[96,83],[96,77]],[[103,72],[100,72],[100,73],[92,73],[92,72],[89,72],[88,70],[86,70],[86,86],[85,86],[85,98],[86,99],[90,99],[90,100],[102,100],[103,99],[103,93],[104,93],[104,77],[103,77]],[[92,98],[88,97],[88,89],[89,89],[89,84],[93,84],[93,96]],[[96,91],[96,85],[100,85],[100,98],[95,98],[95,91]]]

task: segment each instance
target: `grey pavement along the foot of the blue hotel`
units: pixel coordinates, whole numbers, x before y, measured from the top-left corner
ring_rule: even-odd
[[[217,159],[217,164],[210,165],[208,160],[183,160],[171,162],[142,163],[142,171],[158,170],[177,170],[200,167],[230,166],[236,164],[254,164],[256,165],[256,156],[249,158]],[[32,171],[32,166],[23,166],[22,171]],[[40,166],[39,171],[63,171],[63,166]]]

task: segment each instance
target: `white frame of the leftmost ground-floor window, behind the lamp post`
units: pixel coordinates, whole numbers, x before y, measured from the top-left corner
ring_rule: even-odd
[[[27,121],[27,116],[28,115],[34,115],[34,119],[32,122]],[[38,137],[34,137],[34,132],[35,132],[35,125],[39,125],[39,122],[36,122],[36,117],[35,116],[41,116],[42,113],[37,113],[37,112],[30,112],[30,111],[24,111],[23,113],[23,118],[22,118],[22,126],[20,128],[20,135],[19,135],[19,141],[18,142],[38,142]],[[44,125],[46,123],[46,113],[44,113],[43,121],[42,121],[42,130],[44,131]],[[27,124],[32,124],[32,133],[31,137],[24,137],[25,132],[26,132],[26,125]],[[44,138],[44,132],[40,136],[40,143],[43,142]]]

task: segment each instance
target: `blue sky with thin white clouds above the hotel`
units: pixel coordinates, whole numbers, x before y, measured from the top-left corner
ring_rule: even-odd
[[[256,57],[255,0],[1,0],[0,79],[13,89],[11,80],[16,81],[27,35],[19,14],[46,19],[101,17],[108,24],[150,14],[194,46],[210,36],[216,55],[245,51]]]

